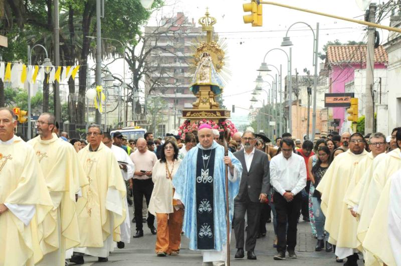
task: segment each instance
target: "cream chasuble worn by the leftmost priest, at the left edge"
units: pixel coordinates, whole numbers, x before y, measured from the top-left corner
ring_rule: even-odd
[[[0,141],[0,266],[33,265],[42,259],[38,224],[53,208],[34,150],[21,138]]]

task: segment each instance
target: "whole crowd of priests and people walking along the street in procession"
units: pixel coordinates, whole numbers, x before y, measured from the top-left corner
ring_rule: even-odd
[[[115,246],[143,237],[143,223],[157,256],[178,255],[183,234],[205,265],[225,265],[229,229],[234,257],[255,260],[272,222],[274,259],[297,258],[300,219],[315,250],[337,262],[357,265],[363,254],[366,265],[401,265],[401,128],[312,142],[252,128],[230,140],[203,124],[185,136],[127,140],[92,124],[86,140],[70,140],[43,113],[25,142],[16,124],[0,108],[0,265],[82,264],[84,254],[107,261]]]

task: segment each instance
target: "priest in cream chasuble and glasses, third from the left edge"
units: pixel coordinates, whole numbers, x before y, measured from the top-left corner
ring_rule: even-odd
[[[70,261],[84,263],[83,254],[107,261],[113,240],[121,241],[120,225],[125,220],[126,188],[113,152],[103,143],[103,130],[97,124],[88,127],[87,145],[79,151],[89,185],[82,189],[87,202],[78,199],[77,212],[81,243],[74,248]]]

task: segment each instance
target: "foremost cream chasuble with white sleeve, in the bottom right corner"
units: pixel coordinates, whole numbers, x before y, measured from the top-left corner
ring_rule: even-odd
[[[401,266],[401,170],[388,178],[363,240],[365,265]]]

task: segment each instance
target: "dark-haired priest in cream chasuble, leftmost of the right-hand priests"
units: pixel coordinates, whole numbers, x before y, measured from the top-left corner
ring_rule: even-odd
[[[329,243],[336,245],[335,254],[339,259],[347,257],[346,265],[354,266],[358,260],[358,244],[352,232],[356,232],[357,224],[343,199],[353,172],[367,156],[365,139],[354,133],[348,147],[348,151],[334,159],[316,189],[322,193],[320,207],[326,216],[324,229],[330,233]]]

